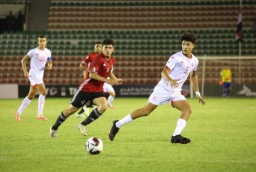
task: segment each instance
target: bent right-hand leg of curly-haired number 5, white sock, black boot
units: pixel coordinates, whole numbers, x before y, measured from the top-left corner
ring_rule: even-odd
[[[192,113],[191,106],[190,104],[188,104],[187,100],[178,100],[173,102],[173,107],[181,110],[181,116],[178,119],[176,129],[174,130],[174,133],[171,136],[171,142],[187,144],[188,142],[190,142],[190,139],[181,136],[181,132],[185,128],[188,118]]]

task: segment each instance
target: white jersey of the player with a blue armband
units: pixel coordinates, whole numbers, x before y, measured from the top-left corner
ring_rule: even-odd
[[[34,48],[30,49],[27,54],[30,57],[30,72],[29,75],[40,75],[43,77],[43,72],[45,71],[45,64],[47,60],[51,60],[51,51],[50,49],[39,49]]]

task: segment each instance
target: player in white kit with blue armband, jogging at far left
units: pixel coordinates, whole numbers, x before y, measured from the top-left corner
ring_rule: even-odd
[[[38,113],[37,119],[42,121],[47,120],[43,116],[43,106],[45,104],[46,88],[43,83],[43,72],[47,63],[47,69],[50,71],[53,68],[51,61],[51,51],[46,48],[47,39],[45,36],[39,36],[37,40],[38,46],[34,49],[30,49],[22,60],[22,68],[24,71],[24,77],[30,80],[30,92],[27,97],[22,101],[21,106],[18,110],[15,110],[16,121],[21,121],[21,114],[26,109],[30,101],[35,97],[36,93],[39,92],[38,98]],[[27,71],[26,62],[30,59],[30,71]]]

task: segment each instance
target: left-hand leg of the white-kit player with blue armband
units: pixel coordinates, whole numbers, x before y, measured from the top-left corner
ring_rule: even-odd
[[[36,95],[36,92],[37,92],[37,89],[33,86],[30,86],[30,92],[28,92],[27,97],[24,98],[19,109],[15,110],[15,112],[14,112],[14,114],[16,116],[16,121],[21,121],[21,114],[22,114],[23,110],[25,110],[28,107],[28,105],[30,104],[30,101]]]

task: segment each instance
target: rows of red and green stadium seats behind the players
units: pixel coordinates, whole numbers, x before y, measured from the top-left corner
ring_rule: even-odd
[[[256,54],[255,6],[256,1],[243,1],[242,56]],[[197,35],[196,56],[238,56],[238,11],[238,1],[231,0],[51,1],[47,31],[1,35],[0,66],[6,72],[1,72],[0,83],[27,84],[22,71],[10,71],[10,66],[20,66],[28,49],[36,46],[37,36],[46,34],[54,62],[53,71],[45,72],[46,84],[80,83],[79,63],[104,38],[116,42],[117,77],[126,84],[155,84],[170,54],[181,50],[179,36],[185,31]],[[206,62],[207,83],[217,83],[223,63]],[[255,83],[255,62],[244,65],[243,80]],[[236,63],[231,69],[237,75]],[[200,81],[202,65],[198,71]]]

